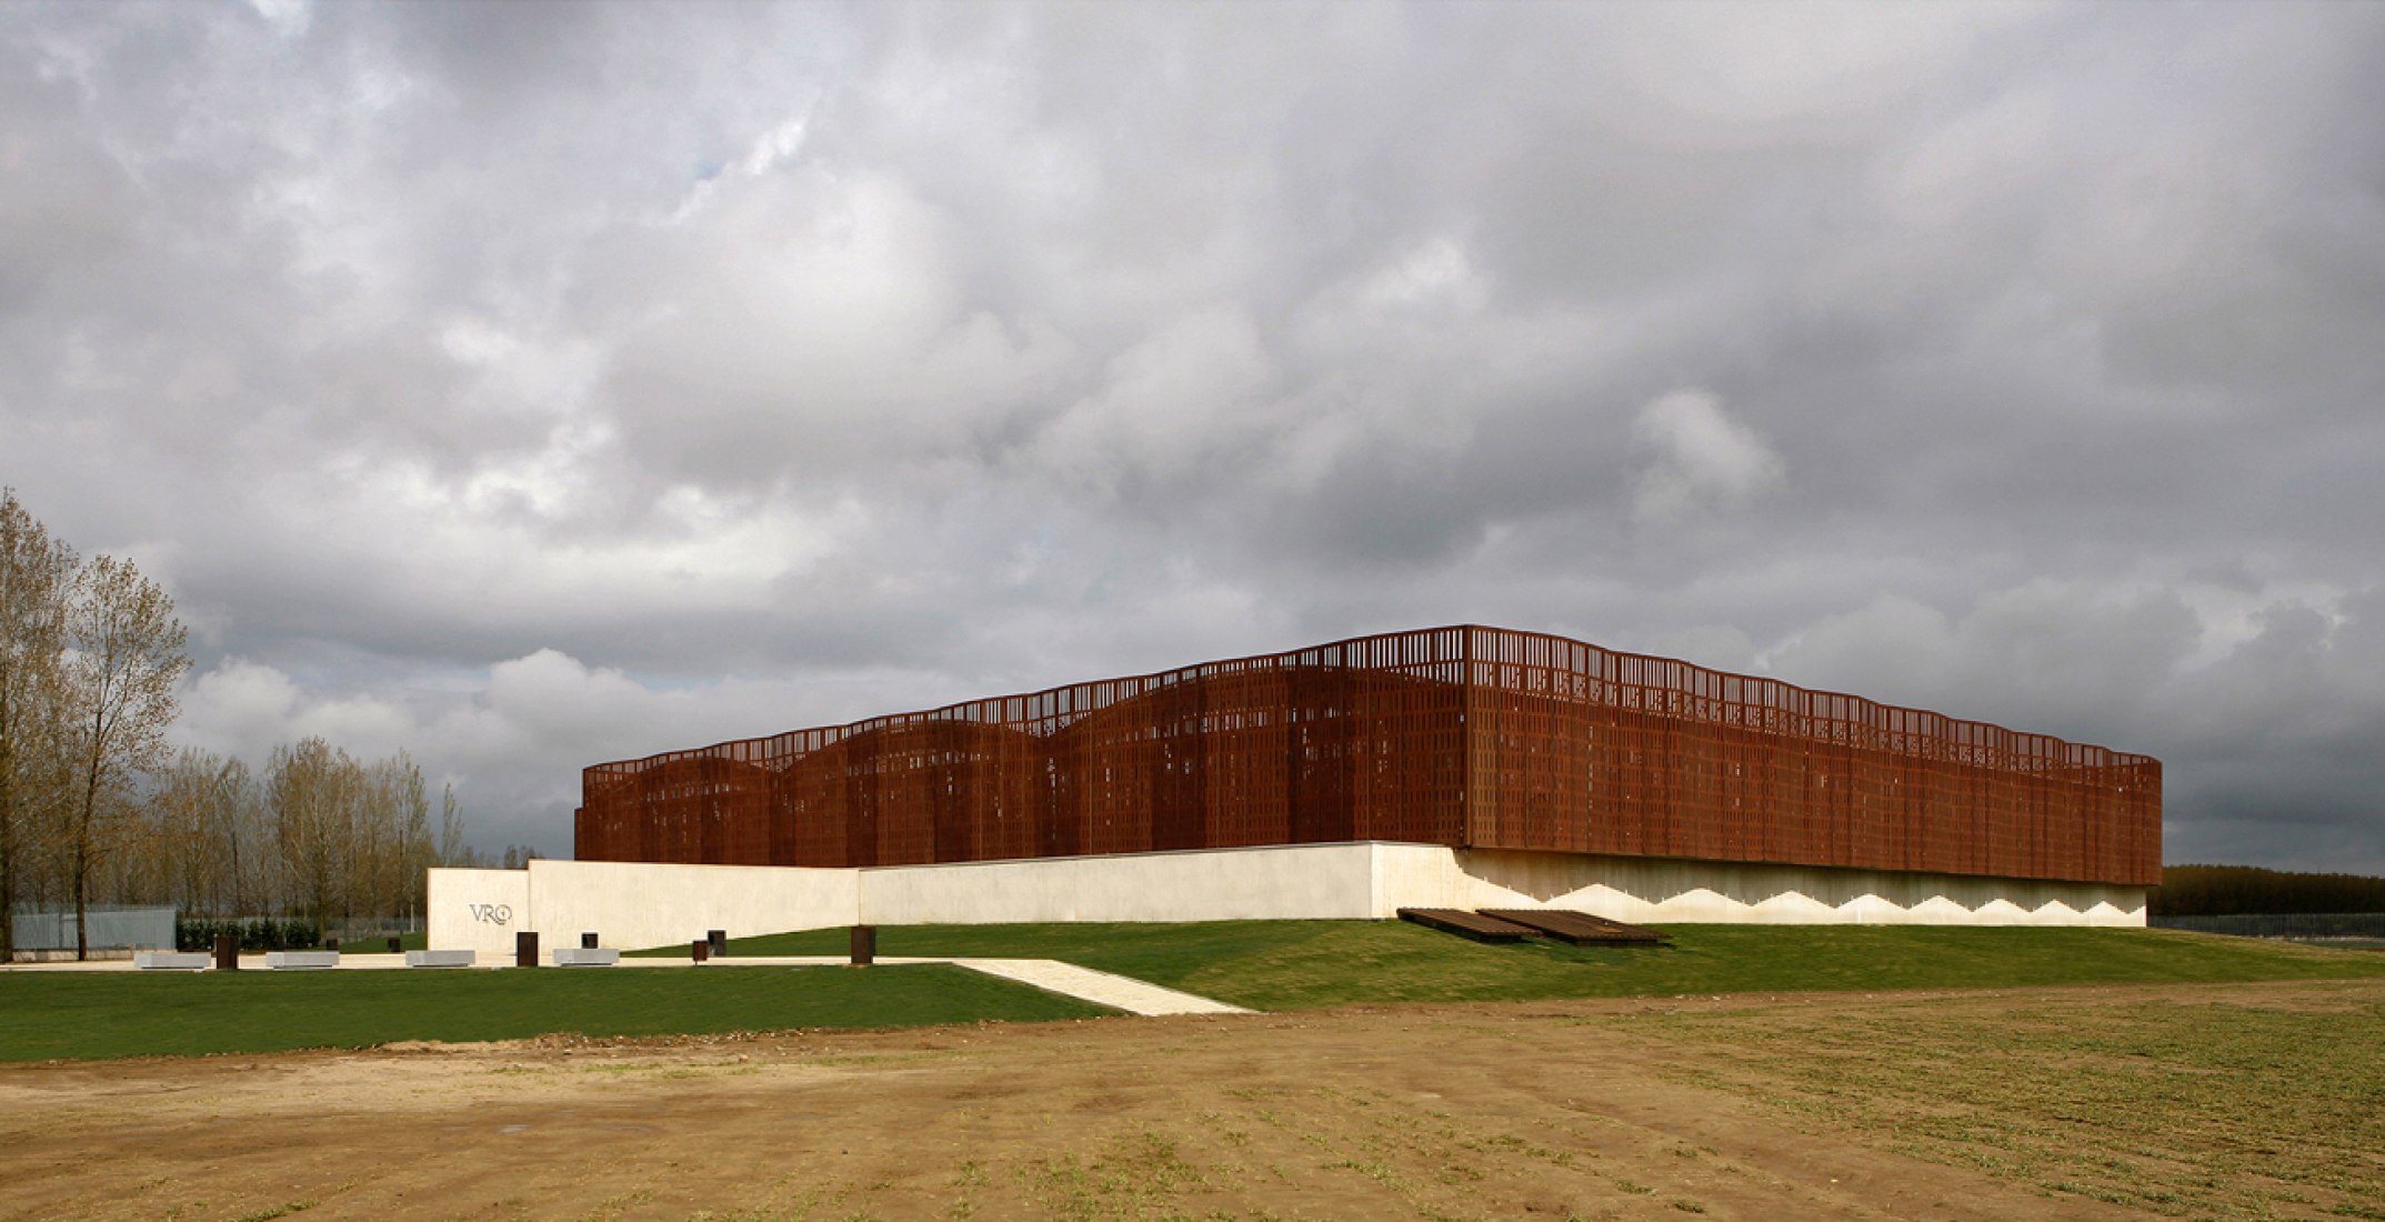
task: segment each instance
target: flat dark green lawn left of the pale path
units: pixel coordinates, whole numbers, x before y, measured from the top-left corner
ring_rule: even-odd
[[[0,1060],[665,1036],[1107,1014],[959,967],[735,971],[0,971]]]

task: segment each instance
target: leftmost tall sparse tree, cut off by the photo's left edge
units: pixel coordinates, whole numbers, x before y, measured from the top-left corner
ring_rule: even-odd
[[[19,881],[60,800],[57,687],[74,549],[0,489],[0,962]]]

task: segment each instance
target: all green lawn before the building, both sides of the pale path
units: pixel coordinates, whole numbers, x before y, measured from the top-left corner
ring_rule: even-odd
[[[885,957],[1066,959],[1255,1010],[1340,1002],[2385,976],[2385,955],[2144,928],[1672,926],[1669,948],[1479,945],[1405,921],[885,926]],[[820,928],[730,955],[842,955]],[[651,955],[687,955],[661,948]],[[954,967],[0,974],[0,1060],[272,1053],[580,1031],[1068,1019]]]

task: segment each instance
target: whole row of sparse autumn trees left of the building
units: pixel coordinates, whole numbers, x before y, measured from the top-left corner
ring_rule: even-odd
[[[425,869],[489,864],[422,769],[308,737],[262,773],[167,745],[191,668],[174,599],[81,558],[0,489],[0,955],[19,905],[95,902],[317,921],[420,912]],[[525,850],[506,850],[518,864]]]

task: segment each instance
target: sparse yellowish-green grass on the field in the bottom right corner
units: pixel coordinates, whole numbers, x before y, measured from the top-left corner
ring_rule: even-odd
[[[1708,1045],[1722,1057],[1701,1086],[1805,1127],[2058,1196],[2194,1217],[2385,1212],[2385,1000],[2371,986],[1584,1022]]]

